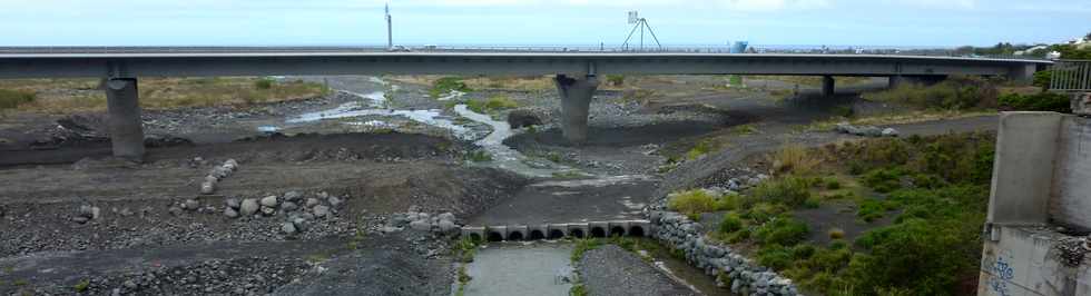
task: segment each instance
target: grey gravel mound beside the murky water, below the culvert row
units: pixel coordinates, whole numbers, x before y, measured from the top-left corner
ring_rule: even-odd
[[[586,253],[580,259],[580,278],[590,295],[697,295],[615,245]]]

